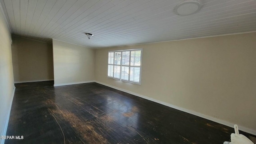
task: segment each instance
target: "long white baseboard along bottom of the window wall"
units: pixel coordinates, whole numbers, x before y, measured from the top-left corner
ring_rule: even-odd
[[[199,112],[195,112],[195,111],[193,111],[193,110],[188,110],[188,109],[186,109],[186,108],[181,108],[181,107],[178,107],[178,106],[174,106],[174,105],[169,104],[169,103],[167,103],[167,102],[162,102],[162,101],[160,101],[160,100],[156,100],[156,99],[150,98],[150,97],[148,97],[148,96],[143,96],[143,95],[141,95],[141,94],[137,94],[137,93],[135,93],[135,92],[131,92],[131,91],[128,91],[128,90],[124,90],[124,89],[122,89],[122,88],[118,88],[118,87],[115,87],[115,86],[111,86],[111,85],[109,85],[109,84],[105,84],[105,83],[98,82],[98,81],[95,81],[95,82],[98,83],[98,84],[102,84],[102,85],[104,85],[104,86],[108,86],[108,87],[110,87],[110,88],[114,88],[114,89],[116,89],[116,90],[120,90],[120,91],[127,92],[127,93],[129,93],[129,94],[132,94],[132,95],[135,95],[135,96],[138,96],[138,97],[141,97],[141,98],[145,98],[145,99],[147,99],[147,100],[156,102],[156,103],[158,103],[158,104],[162,104],[162,105],[168,106],[168,107],[170,107],[170,108],[174,108],[174,109],[176,109],[176,110],[180,110],[180,111],[183,111],[183,112],[187,112],[187,113],[189,113],[189,114],[193,114],[193,115],[195,115],[195,116],[199,116],[199,117],[201,117],[201,118],[205,118],[205,119],[207,119],[207,120],[211,120],[211,121],[217,122],[217,123],[219,123],[219,124],[223,124],[223,125],[225,125],[225,126],[229,126],[229,127],[231,127],[231,128],[234,128],[234,123],[232,123],[232,122],[227,122],[227,121],[224,121],[224,120],[220,120],[220,119],[214,118],[214,117],[212,117],[212,116],[207,116],[207,115],[205,115],[205,114],[201,114],[201,113],[199,113]],[[252,130],[252,129],[250,129],[250,128],[246,128],[246,127],[243,127],[243,126],[238,126],[238,128],[239,128],[239,130],[242,130],[242,131],[244,131],[244,132],[248,132],[248,133],[250,133],[250,134],[256,135],[256,130]]]

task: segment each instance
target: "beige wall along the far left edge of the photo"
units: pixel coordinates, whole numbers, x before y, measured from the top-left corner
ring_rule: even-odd
[[[14,88],[11,34],[0,8],[0,135],[4,135]],[[1,143],[0,139],[0,143]]]

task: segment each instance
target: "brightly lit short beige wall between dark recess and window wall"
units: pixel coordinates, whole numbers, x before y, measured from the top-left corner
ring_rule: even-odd
[[[94,80],[94,50],[53,40],[54,86]]]

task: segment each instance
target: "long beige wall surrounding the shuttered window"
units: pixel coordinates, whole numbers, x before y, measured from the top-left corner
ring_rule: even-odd
[[[109,50],[143,48],[141,85],[107,78]],[[96,50],[96,81],[256,130],[256,33]]]

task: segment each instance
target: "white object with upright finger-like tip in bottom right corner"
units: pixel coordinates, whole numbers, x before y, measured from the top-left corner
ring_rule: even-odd
[[[231,134],[231,142],[224,142],[223,144],[253,144],[246,136],[239,134],[238,126],[235,124],[235,133]]]

